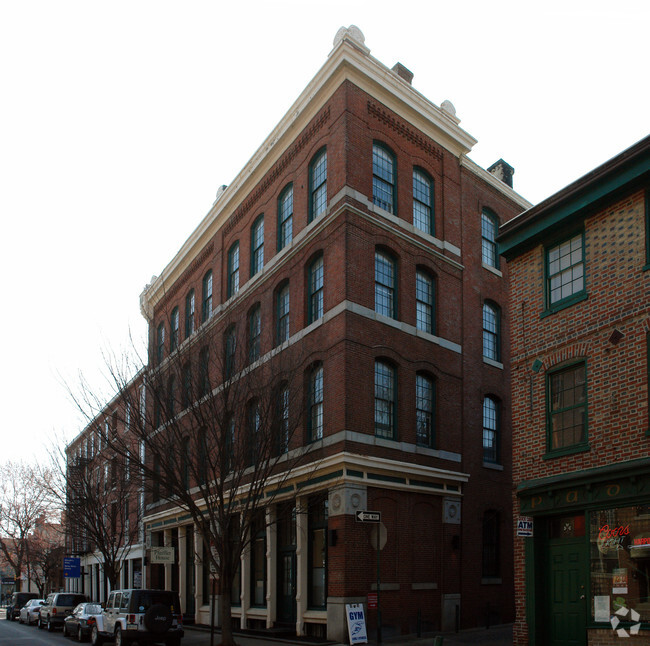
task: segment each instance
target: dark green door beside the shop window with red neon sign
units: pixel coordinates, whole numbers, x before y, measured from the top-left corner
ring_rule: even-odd
[[[586,553],[584,540],[548,542],[549,646],[586,646]]]

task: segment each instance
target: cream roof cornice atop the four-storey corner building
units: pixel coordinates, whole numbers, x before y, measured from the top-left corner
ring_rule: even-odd
[[[343,38],[335,45],[316,76],[221,193],[161,275],[144,288],[140,302],[145,317],[151,315],[165,290],[181,277],[201,249],[227,222],[344,81],[348,80],[360,87],[457,157],[462,158],[471,150],[476,140],[458,126],[455,116],[434,105],[367,51],[369,50],[360,48],[348,38]]]

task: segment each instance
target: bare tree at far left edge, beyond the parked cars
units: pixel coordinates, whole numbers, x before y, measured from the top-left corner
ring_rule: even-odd
[[[0,470],[0,550],[14,571],[16,589],[29,557],[29,540],[37,523],[53,511],[47,488],[35,467],[7,462]]]

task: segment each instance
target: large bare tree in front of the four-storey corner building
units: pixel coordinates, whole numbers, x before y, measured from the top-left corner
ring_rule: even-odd
[[[285,342],[260,356],[256,325],[250,317],[246,325],[221,320],[217,331],[208,322],[164,361],[153,356],[154,367],[140,368],[142,385],[127,376],[133,365],[111,362],[113,402],[128,432],[101,438],[107,455],[139,473],[147,512],[182,509],[191,517],[218,582],[227,646],[241,555],[286,481],[313,463],[308,427],[322,429],[322,408],[313,420],[304,416],[309,365],[299,347]],[[78,402],[95,420],[106,412],[87,388]]]

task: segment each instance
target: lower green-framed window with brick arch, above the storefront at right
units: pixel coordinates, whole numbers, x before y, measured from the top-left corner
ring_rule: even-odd
[[[573,452],[587,445],[587,364],[549,371],[546,376],[547,450]]]

